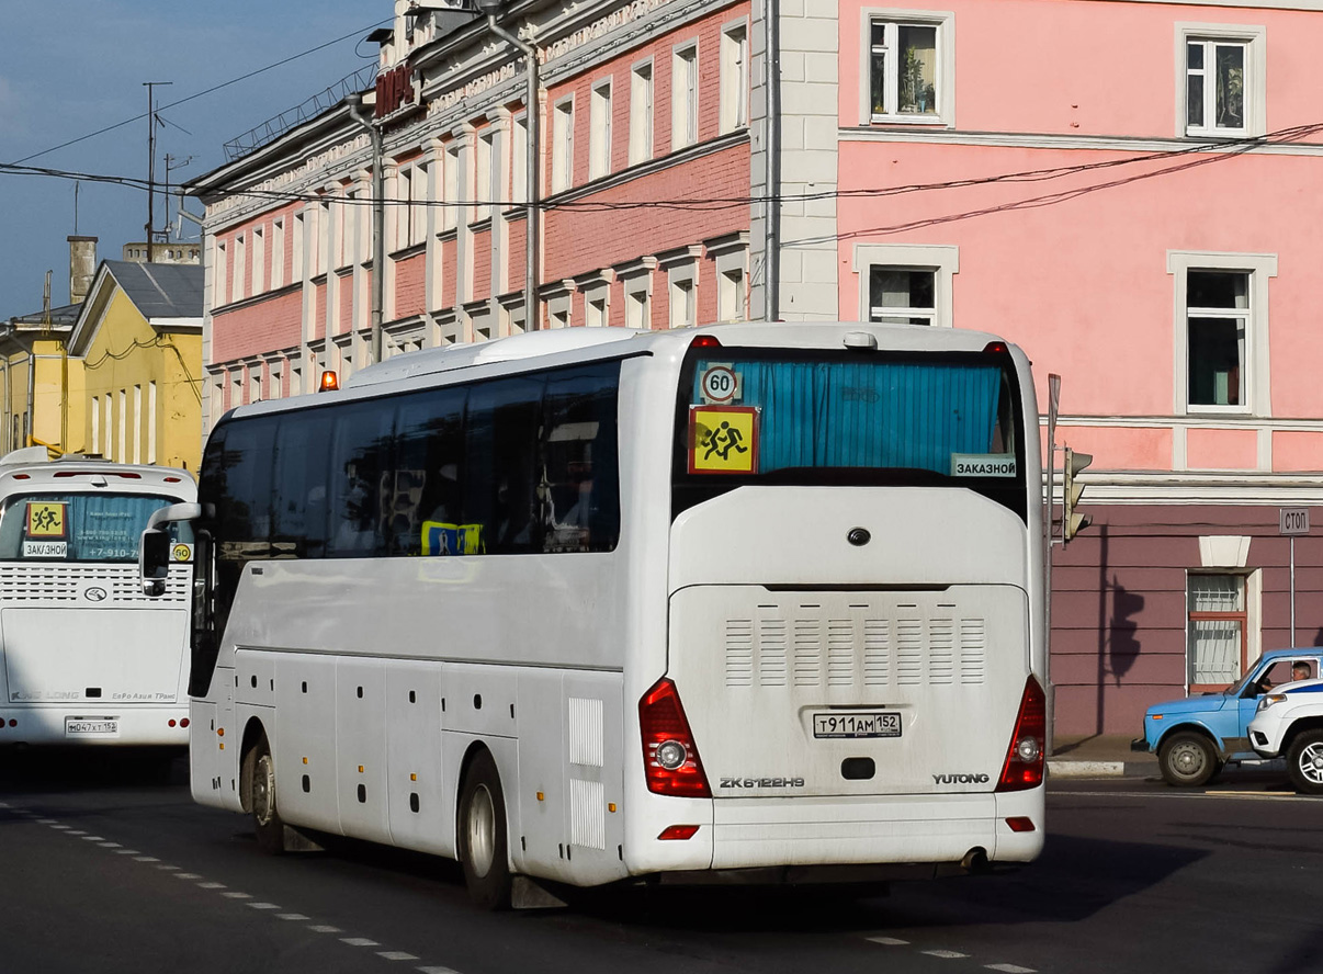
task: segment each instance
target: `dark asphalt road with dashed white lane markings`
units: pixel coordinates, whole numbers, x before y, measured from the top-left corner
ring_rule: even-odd
[[[1054,783],[1046,852],[1012,875],[486,914],[429,856],[263,855],[181,761],[0,761],[0,974],[1323,970],[1323,801],[1273,777]]]

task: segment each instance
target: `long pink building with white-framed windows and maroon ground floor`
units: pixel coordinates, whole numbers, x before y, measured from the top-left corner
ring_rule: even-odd
[[[523,331],[524,62],[396,4],[385,353]],[[1323,506],[1316,3],[511,3],[538,50],[538,327],[999,332],[1062,377],[1094,525],[1053,572],[1056,733],[1289,644],[1281,507]],[[404,78],[404,82],[400,79]],[[196,180],[208,425],[368,360],[372,148],[345,105]],[[1323,643],[1323,541],[1295,545]]]

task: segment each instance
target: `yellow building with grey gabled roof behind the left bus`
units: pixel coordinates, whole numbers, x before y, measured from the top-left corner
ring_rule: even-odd
[[[69,353],[70,361],[82,360],[81,405],[70,410],[70,420],[78,414],[79,427],[77,435],[69,434],[70,443],[77,439],[86,453],[123,463],[197,471],[202,455],[200,266],[103,261],[73,326]]]

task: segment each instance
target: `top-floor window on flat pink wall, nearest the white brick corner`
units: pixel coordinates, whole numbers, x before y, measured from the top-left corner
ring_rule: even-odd
[[[954,24],[950,15],[876,16],[865,11],[869,38],[863,78],[863,122],[945,122],[954,119]]]

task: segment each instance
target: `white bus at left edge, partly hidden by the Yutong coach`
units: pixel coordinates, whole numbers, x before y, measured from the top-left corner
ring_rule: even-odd
[[[0,459],[0,745],[188,744],[189,525],[167,536],[156,598],[138,539],[196,496],[171,467],[44,446]]]

